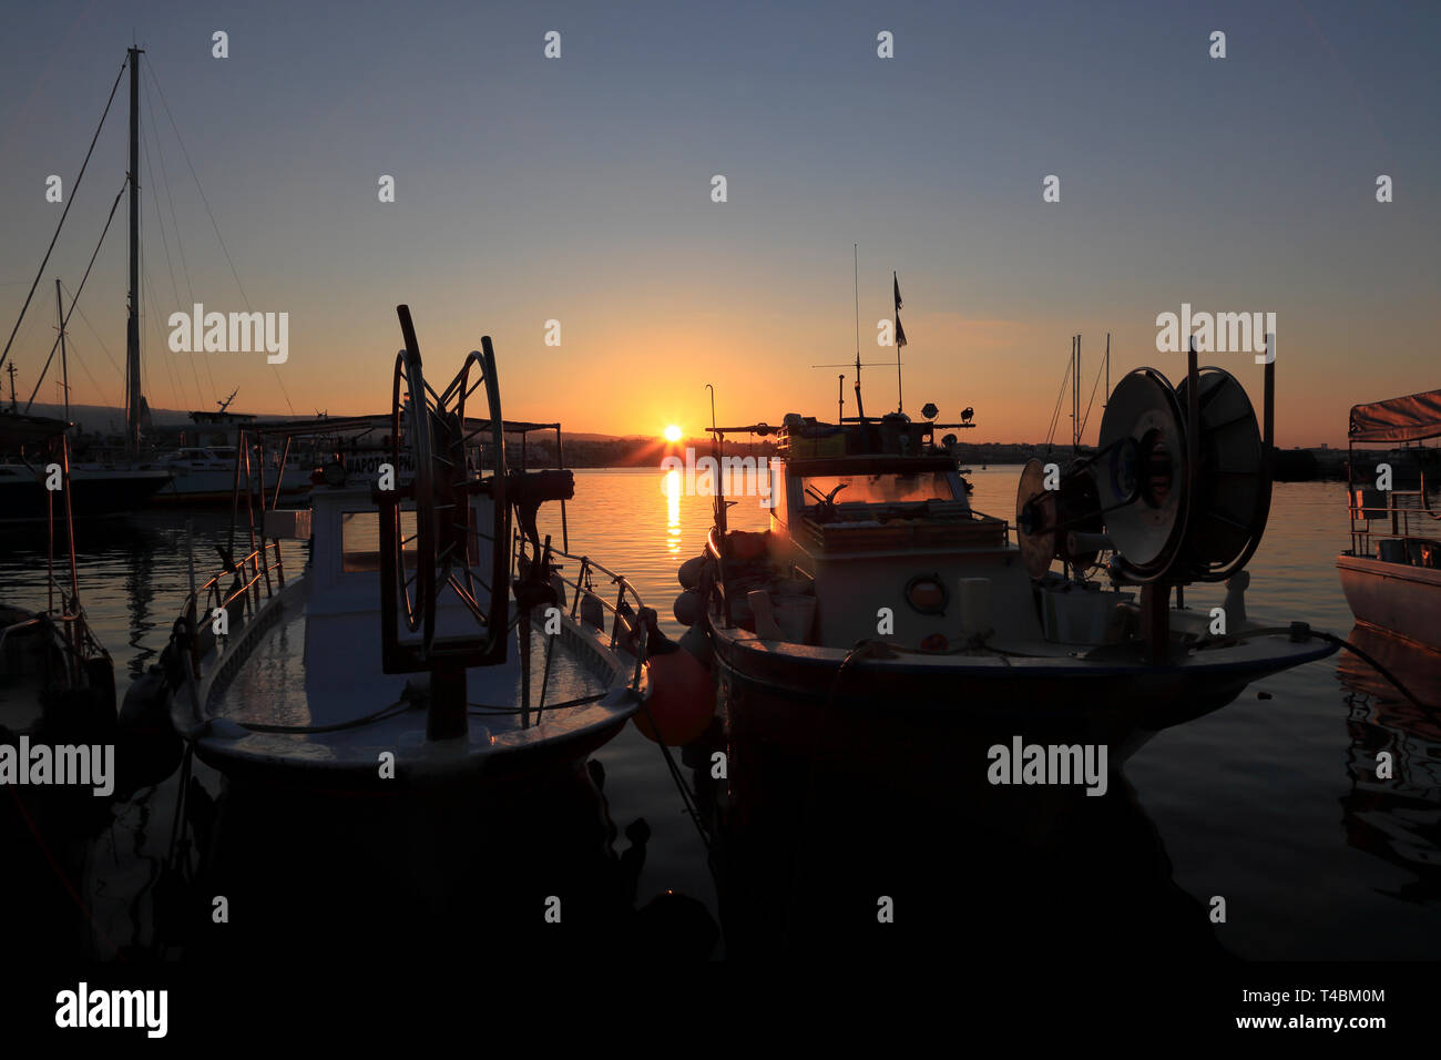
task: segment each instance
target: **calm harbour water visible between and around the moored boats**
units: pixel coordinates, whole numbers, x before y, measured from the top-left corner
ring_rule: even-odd
[[[973,503],[1010,516],[1017,473],[1014,467],[976,469]],[[1342,635],[1352,629],[1334,573],[1336,551],[1346,542],[1343,503],[1339,485],[1277,486],[1265,542],[1251,564],[1252,614],[1306,619]],[[82,594],[115,659],[121,698],[163,648],[186,590],[183,521],[176,513],[146,513],[79,534]],[[197,554],[213,557],[213,542],[223,536],[228,518],[212,512],[196,513],[195,521]],[[627,574],[672,635],[680,633],[670,616],[676,568],[702,549],[709,525],[709,500],[667,498],[656,472],[576,473],[576,502],[569,506],[572,551]],[[742,500],[732,509],[731,525],[759,529],[765,515]],[[559,531],[553,518],[550,529]],[[0,542],[0,596],[43,603],[43,596],[36,596],[43,558],[43,542]],[[298,570],[298,554],[293,560],[291,570]],[[1187,603],[1209,606],[1222,596],[1219,588],[1196,588]],[[1434,662],[1383,642],[1366,643],[1389,652],[1388,663],[1424,699],[1438,698]],[[1370,763],[1379,750],[1396,754],[1395,780],[1373,779]],[[627,885],[635,904],[674,891],[699,900],[719,920],[722,890],[659,748],[627,727],[595,757],[605,770],[601,844],[608,851],[607,864],[628,865]],[[196,772],[212,796],[219,793],[215,773],[200,766]],[[695,783],[690,769],[684,774]],[[1182,910],[1187,924],[1199,924],[1203,919],[1196,920],[1196,911],[1212,896],[1223,896],[1228,922],[1203,927],[1200,933],[1209,935],[1202,942],[1219,943],[1242,958],[1441,953],[1441,727],[1344,656],[1262,681],[1225,710],[1161,733],[1127,764],[1125,776],[1131,790],[1117,786],[1111,798],[1094,800],[1107,808],[1082,829],[1087,842],[1065,852],[1065,874],[1046,887],[1059,893],[1074,890],[1076,880],[1094,880],[1125,893],[1136,862],[1146,877],[1137,904],[1128,907],[1127,897],[1104,914],[1130,916],[1137,933],[1147,930],[1157,903]],[[807,799],[814,803],[814,777],[807,783]],[[91,916],[89,926],[78,932],[76,952],[105,958],[117,949],[150,945],[156,930],[150,897],[170,842],[177,786],[177,777],[170,776],[141,787],[111,808],[111,821],[84,829],[66,845],[59,861]],[[820,803],[834,808],[855,798],[865,800],[843,783],[823,783],[818,793]],[[876,841],[878,828],[906,835],[912,849],[944,852],[947,864],[970,862],[973,878],[1010,871],[1012,862],[996,854],[1003,848],[996,847],[994,835],[983,839],[981,832],[968,829],[944,839],[915,838],[932,812],[928,805],[888,805],[878,825],[865,809],[847,806],[816,831],[829,834],[840,871],[856,878],[885,874],[889,862],[880,858],[891,854]],[[628,829],[640,819],[650,828],[643,865],[624,857],[631,847]],[[1003,822],[996,828],[1004,832]],[[261,825],[256,842],[262,849],[267,835]],[[281,855],[275,858],[280,871]],[[444,875],[448,870],[441,864],[431,871]],[[800,885],[794,867],[781,873],[762,865],[758,871],[762,880],[774,873],[778,887]],[[944,877],[935,871],[937,878]],[[814,875],[810,881],[814,884]],[[303,890],[303,883],[291,878],[287,890]],[[1036,893],[1045,897],[1045,888]],[[56,885],[55,896],[61,894]],[[732,901],[728,911],[745,909],[744,898]]]

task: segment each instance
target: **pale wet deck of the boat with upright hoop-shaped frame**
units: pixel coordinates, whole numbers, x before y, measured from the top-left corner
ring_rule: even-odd
[[[608,663],[589,632],[566,626],[552,650],[546,681],[543,637],[532,633],[530,724],[522,724],[522,662],[512,633],[509,659],[467,671],[470,731],[464,740],[425,738],[427,673],[383,673],[373,613],[307,614],[285,609],[271,629],[216,679],[199,738],[200,757],[232,777],[288,783],[375,786],[380,756],[393,754],[396,780],[425,782],[484,773],[500,760],[527,766],[584,756],[608,740],[635,710],[620,688],[615,656]],[[545,710],[546,704],[604,695],[597,702]],[[376,717],[380,715],[380,717]],[[267,733],[248,727],[304,727],[305,733]],[[317,731],[318,730],[318,731]],[[507,754],[507,751],[527,751]]]

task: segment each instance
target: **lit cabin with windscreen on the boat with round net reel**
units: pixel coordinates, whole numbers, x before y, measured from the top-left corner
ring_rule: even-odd
[[[716,541],[732,620],[823,648],[876,636],[929,650],[986,632],[1039,639],[1035,609],[990,606],[1030,599],[1006,522],[971,508],[955,459],[927,443],[929,424],[892,420],[787,417],[769,531]]]

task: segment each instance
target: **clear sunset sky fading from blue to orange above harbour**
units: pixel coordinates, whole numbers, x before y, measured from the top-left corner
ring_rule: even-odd
[[[1075,333],[1085,397],[1107,333],[1112,385],[1179,382],[1156,317],[1182,303],[1275,313],[1284,447],[1344,444],[1350,405],[1441,385],[1441,4],[7,0],[4,22],[4,335],[63,209],[46,177],[69,199],[146,49],[157,408],[238,388],[235,411],[386,411],[403,301],[437,389],[493,337],[507,418],[695,434],[706,384],[720,421],[827,418],[842,372],[853,414],[855,369],[814,365],[856,356],[857,244],[862,358],[892,365],[863,369],[867,414],[898,404],[876,345],[895,270],[901,404],[973,407],[967,441],[1045,440]],[[75,290],[122,186],[127,120],[122,82],[12,352],[22,402],[53,277]],[[124,211],[69,326],[76,404],[122,394]],[[288,359],[170,352],[195,301],[288,313]],[[1259,408],[1251,355],[1208,362]]]

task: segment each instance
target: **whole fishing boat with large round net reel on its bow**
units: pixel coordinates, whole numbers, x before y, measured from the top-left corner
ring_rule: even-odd
[[[682,645],[710,669],[728,740],[824,740],[915,774],[955,740],[1049,736],[1105,746],[1115,767],[1252,681],[1330,655],[1327,635],[1245,597],[1272,391],[1268,365],[1262,437],[1242,385],[1195,349],[1179,388],[1131,372],[1092,454],[1026,466],[1014,524],[971,508],[929,421],[859,404],[833,425],[787,415],[769,529],[729,529],[718,496],[706,549],[680,571]],[[726,434],[771,430],[715,428],[722,466]],[[1187,609],[1185,587],[1209,581],[1226,583],[1225,607]]]

